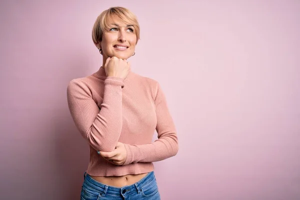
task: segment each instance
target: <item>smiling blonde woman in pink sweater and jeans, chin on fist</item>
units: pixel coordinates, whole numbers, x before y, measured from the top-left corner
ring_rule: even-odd
[[[130,70],[137,19],[123,7],[104,10],[92,39],[102,66],[67,87],[71,116],[90,146],[81,199],[160,199],[152,162],[174,156],[178,142],[159,83]]]

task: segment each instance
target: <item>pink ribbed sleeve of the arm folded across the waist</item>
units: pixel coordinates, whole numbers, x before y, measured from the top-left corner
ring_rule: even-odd
[[[169,113],[165,95],[159,83],[154,99],[156,109],[157,137],[154,142],[141,145],[124,144],[127,157],[123,165],[135,162],[154,162],[174,156],[178,151],[178,140],[172,117]]]

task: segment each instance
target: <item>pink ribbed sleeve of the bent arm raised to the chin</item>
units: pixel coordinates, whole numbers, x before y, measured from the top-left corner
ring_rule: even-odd
[[[81,135],[95,150],[112,151],[122,129],[123,79],[104,80],[103,101],[97,105],[86,83],[73,79],[67,86],[67,103]]]

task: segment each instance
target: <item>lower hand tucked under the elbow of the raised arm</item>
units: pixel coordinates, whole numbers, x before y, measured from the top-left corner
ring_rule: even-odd
[[[127,158],[127,150],[125,145],[121,142],[117,142],[115,149],[110,152],[98,151],[98,153],[107,161],[115,164],[122,165],[124,164]]]

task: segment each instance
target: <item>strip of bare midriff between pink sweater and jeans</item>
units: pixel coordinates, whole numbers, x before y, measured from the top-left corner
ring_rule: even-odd
[[[102,184],[106,184],[108,186],[114,187],[123,187],[126,185],[134,184],[138,182],[140,179],[145,177],[148,173],[140,173],[140,174],[127,174],[122,176],[92,176],[90,177]]]

